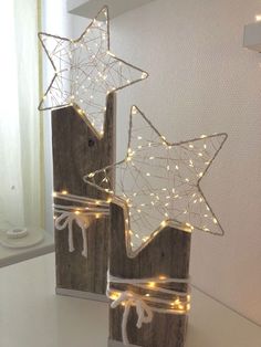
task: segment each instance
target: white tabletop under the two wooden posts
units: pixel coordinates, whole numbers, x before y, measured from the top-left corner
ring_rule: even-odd
[[[54,254],[0,269],[1,347],[107,346],[107,305],[54,286]],[[261,347],[261,327],[194,290],[186,347]]]

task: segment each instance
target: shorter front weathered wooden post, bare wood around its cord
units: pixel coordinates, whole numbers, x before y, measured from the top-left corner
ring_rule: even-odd
[[[122,209],[111,208],[111,274],[123,278],[149,278],[159,275],[184,278],[189,276],[191,234],[174,228],[165,228],[135,259],[127,257],[124,217]],[[185,284],[171,284],[173,290],[186,291]],[[132,286],[127,286],[132,291]],[[109,308],[109,340],[122,341],[124,307]],[[182,347],[185,344],[187,316],[154,314],[152,324],[136,327],[137,315],[132,308],[127,334],[129,344],[144,347]]]

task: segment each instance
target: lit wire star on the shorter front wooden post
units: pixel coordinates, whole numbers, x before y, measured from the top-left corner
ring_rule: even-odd
[[[132,107],[128,150],[124,160],[91,172],[84,181],[106,191],[123,207],[129,256],[170,225],[223,235],[200,181],[222,148],[227,134],[169,143]],[[115,189],[109,180],[115,172]]]

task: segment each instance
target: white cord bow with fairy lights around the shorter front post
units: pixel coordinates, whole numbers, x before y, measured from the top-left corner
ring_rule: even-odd
[[[166,285],[182,284],[186,292],[166,288]],[[119,290],[118,286],[125,286]],[[126,288],[127,287],[127,288]],[[129,287],[132,290],[129,290]],[[140,290],[145,294],[140,294]],[[137,314],[137,328],[153,320],[154,313],[187,315],[190,311],[190,280],[169,278],[159,276],[155,278],[119,278],[107,274],[107,297],[112,299],[111,307],[124,306],[122,319],[122,338],[124,345],[129,345],[127,336],[127,322],[132,307]],[[164,298],[163,298],[164,295]]]

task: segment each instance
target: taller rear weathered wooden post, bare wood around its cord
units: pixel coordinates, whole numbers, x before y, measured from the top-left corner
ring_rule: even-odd
[[[106,199],[83,176],[114,161],[116,98],[107,98],[104,137],[98,140],[73,107],[52,112],[54,190]],[[67,230],[55,230],[56,287],[105,294],[109,219],[95,220],[87,231],[88,257],[82,256],[82,232],[74,225],[75,251],[69,252]]]

